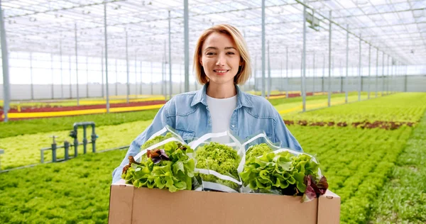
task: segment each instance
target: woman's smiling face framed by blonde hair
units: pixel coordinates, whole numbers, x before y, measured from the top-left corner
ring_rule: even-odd
[[[234,40],[224,33],[211,33],[202,45],[200,63],[212,84],[234,84],[241,66]]]

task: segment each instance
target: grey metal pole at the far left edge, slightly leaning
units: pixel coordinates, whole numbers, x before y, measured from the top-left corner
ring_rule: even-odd
[[[1,38],[1,65],[3,68],[3,99],[4,99],[4,122],[9,120],[9,103],[11,101],[11,90],[9,83],[9,53],[7,51],[6,28],[4,26],[3,9],[0,2],[0,38]]]

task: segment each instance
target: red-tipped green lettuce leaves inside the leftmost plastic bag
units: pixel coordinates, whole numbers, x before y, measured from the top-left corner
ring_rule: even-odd
[[[129,157],[129,165],[124,167],[121,178],[127,184],[150,189],[168,189],[170,192],[192,189],[195,161],[187,153],[193,150],[176,142],[168,142],[164,149],[147,152],[148,159],[141,163]]]

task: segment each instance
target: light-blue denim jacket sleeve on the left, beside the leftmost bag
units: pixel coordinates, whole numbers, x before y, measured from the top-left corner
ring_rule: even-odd
[[[151,135],[164,128],[165,125],[170,125],[170,127],[175,128],[173,119],[169,116],[168,113],[169,106],[170,101],[165,103],[165,105],[160,108],[151,125],[149,125],[148,128],[143,131],[143,133],[141,133],[135,140],[133,140],[133,142],[131,142],[129,150],[127,150],[126,153],[126,157],[124,157],[123,161],[121,161],[120,166],[116,167],[116,169],[114,169],[112,172],[113,184],[121,179],[123,168],[126,166],[126,164],[129,164],[129,156],[134,157],[138,154],[138,152],[141,152],[141,145],[143,145],[143,143],[146,142],[146,140],[148,140]]]

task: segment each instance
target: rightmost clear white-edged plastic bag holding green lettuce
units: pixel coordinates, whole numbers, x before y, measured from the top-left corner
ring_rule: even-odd
[[[242,192],[301,195],[307,189],[307,178],[322,178],[315,157],[304,152],[278,147],[265,133],[243,143],[246,162],[240,176]],[[309,185],[309,184],[308,184]]]

